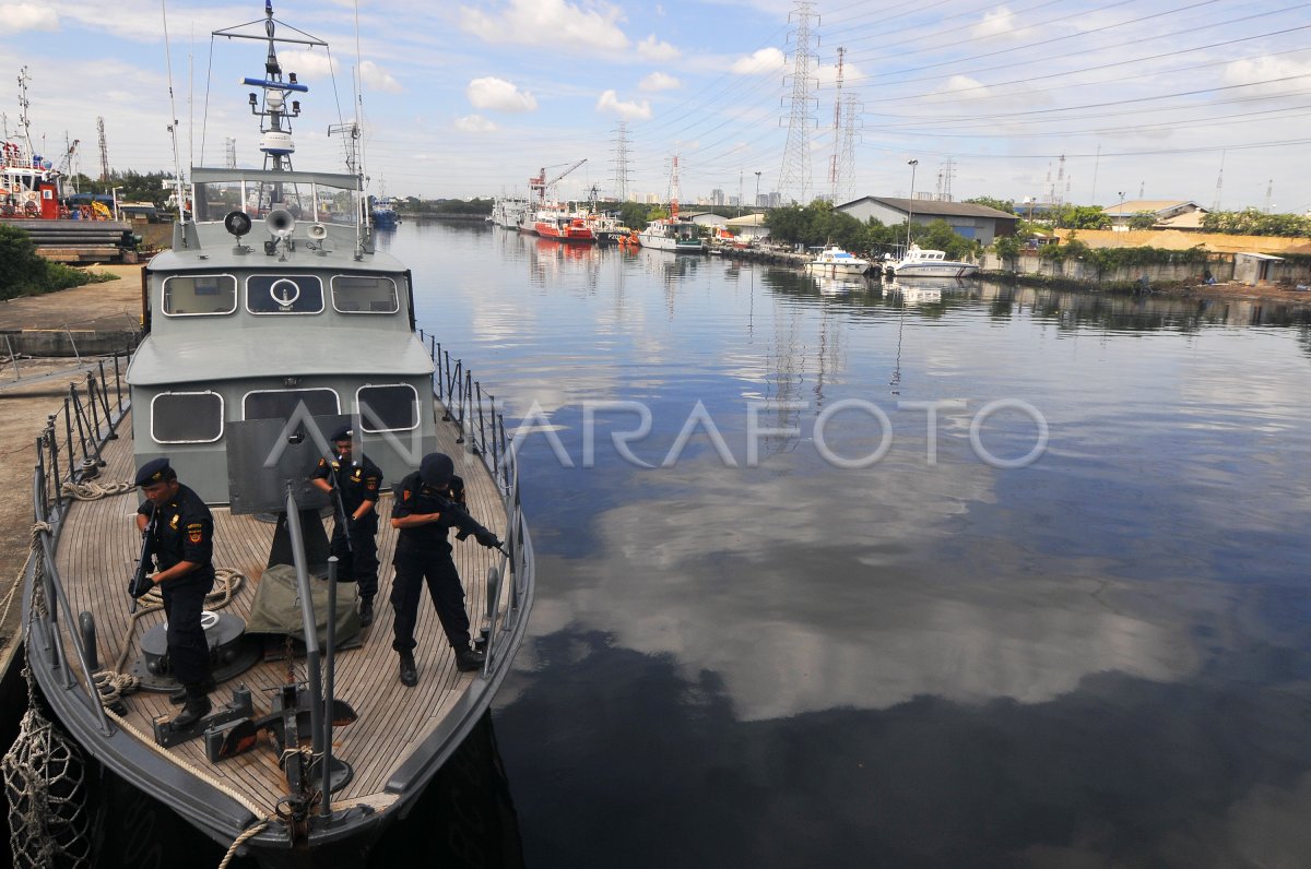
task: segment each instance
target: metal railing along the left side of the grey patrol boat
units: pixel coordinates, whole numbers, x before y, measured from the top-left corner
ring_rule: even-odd
[[[41,594],[45,607],[29,602],[29,627],[39,628],[39,632],[28,634],[29,653],[49,655],[51,670],[63,674],[64,688],[68,689],[77,683],[72,666],[79,667],[85,688],[85,696],[80,699],[106,735],[114,731],[114,726],[100,703],[93,675],[94,650],[87,649],[83,642],[79,616],[68,602],[55,564],[55,548],[67,510],[64,482],[85,482],[100,474],[105,465],[101,451],[108,440],[118,436],[118,426],[131,408],[123,380],[130,353],[131,349],[101,359],[98,372],[90,371],[85,381],[68,384],[68,397],[59,410],[46,418],[46,427],[37,436],[37,464],[31,481],[33,514],[38,523],[34,543],[39,547],[41,558],[30,562],[29,570],[37,571],[39,565],[39,574],[30,577],[28,594]],[[39,589],[37,583],[41,583]],[[72,638],[72,659],[59,636],[62,619]]]

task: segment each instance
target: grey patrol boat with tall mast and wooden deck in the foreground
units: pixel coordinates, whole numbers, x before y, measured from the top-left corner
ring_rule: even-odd
[[[291,166],[308,87],[283,72],[279,26],[299,50],[325,48],[277,21],[271,0],[262,20],[215,31],[267,46],[264,75],[244,80],[264,168],[193,168],[194,219],[143,273],[144,338],[126,398],[102,383],[89,408],[39,438],[26,649],[47,708],[83,752],[229,853],[267,866],[361,865],[489,708],[524,633],[534,558],[494,404],[416,332],[414,280],[375,249],[362,174]],[[84,417],[92,436],[76,463],[71,419],[81,433]],[[307,478],[341,425],[391,484],[426,454],[452,456],[468,511],[503,541],[452,543],[481,670],[456,668],[425,603],[420,683],[400,683],[383,606],[391,493],[378,502],[376,621],[361,629],[353,583],[325,581],[332,505]],[[131,481],[164,456],[210,505],[219,573],[206,604],[215,710],[185,731],[169,724],[177,682],[164,613],[127,594],[144,554],[136,497],[66,495],[97,473]],[[279,600],[290,613],[271,612]]]

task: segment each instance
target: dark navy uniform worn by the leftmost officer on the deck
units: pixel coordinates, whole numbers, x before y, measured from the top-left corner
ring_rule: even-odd
[[[149,519],[155,505],[146,501],[136,512]],[[210,678],[210,644],[201,627],[201,612],[205,596],[214,589],[214,516],[187,486],[178,484],[177,494],[160,507],[159,522],[151,530],[151,550],[159,570],[180,561],[197,565],[190,573],[161,582],[159,589],[168,616],[173,675],[184,686],[202,683]]]

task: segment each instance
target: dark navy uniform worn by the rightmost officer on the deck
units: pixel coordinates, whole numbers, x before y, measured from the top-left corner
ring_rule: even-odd
[[[442,630],[452,649],[467,649],[469,645],[469,613],[464,609],[464,587],[460,574],[451,558],[451,543],[447,532],[454,522],[447,520],[444,503],[454,501],[464,503],[464,481],[452,476],[443,488],[427,486],[416,471],[408,474],[400,486],[392,518],[402,519],[412,514],[442,514],[439,522],[417,528],[401,528],[396,539],[396,578],[392,581],[392,609],[396,613],[392,623],[392,649],[402,655],[410,654],[414,642],[414,624],[418,621],[418,602],[427,582],[427,592],[442,621]]]

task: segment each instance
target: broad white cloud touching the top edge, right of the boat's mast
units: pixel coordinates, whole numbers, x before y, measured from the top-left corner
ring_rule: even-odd
[[[510,0],[498,14],[461,7],[460,29],[485,42],[623,51],[629,39],[616,25],[620,16],[606,4],[583,9],[565,0]]]

